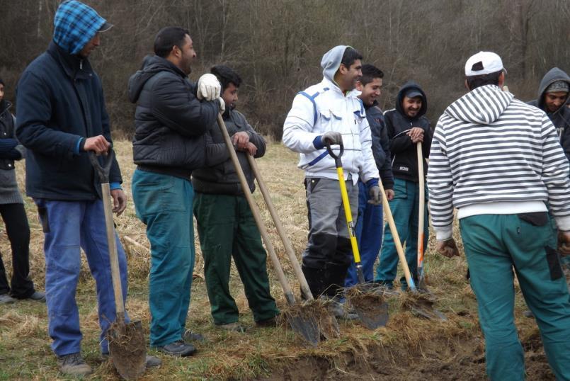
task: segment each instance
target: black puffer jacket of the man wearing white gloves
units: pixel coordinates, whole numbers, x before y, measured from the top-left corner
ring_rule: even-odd
[[[207,165],[205,132],[220,103],[198,101],[195,94],[186,74],[158,56],[145,57],[130,77],[129,99],[137,103],[132,150],[141,169],[190,178],[191,170]]]

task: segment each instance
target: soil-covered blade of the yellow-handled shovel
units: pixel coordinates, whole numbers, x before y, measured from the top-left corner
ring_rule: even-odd
[[[346,299],[367,329],[386,326],[389,318],[388,303],[380,288],[367,283],[358,284],[346,292]]]

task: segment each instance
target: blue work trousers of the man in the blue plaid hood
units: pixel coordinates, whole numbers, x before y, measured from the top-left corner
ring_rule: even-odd
[[[85,251],[97,289],[101,352],[108,353],[105,333],[115,321],[115,296],[111,280],[103,202],[35,199],[44,229],[45,297],[47,327],[57,356],[81,351],[79,311],[75,292]],[[127,298],[127,259],[115,233],[122,284]],[[128,321],[127,314],[125,319]]]

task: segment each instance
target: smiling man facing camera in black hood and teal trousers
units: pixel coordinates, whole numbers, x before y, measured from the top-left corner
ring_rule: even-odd
[[[409,81],[401,87],[396,108],[384,113],[390,152],[392,152],[392,172],[394,174],[394,199],[390,201],[390,210],[401,239],[406,243],[406,260],[410,272],[416,278],[418,265],[418,212],[420,197],[427,199],[427,188],[423,195],[419,193],[418,185],[418,154],[416,144],[421,142],[423,152],[423,174],[427,173],[426,158],[431,148],[433,137],[428,118],[424,116],[428,110],[426,94],[421,87]],[[423,249],[428,243],[428,212],[427,200],[423,222]],[[384,227],[384,245],[380,251],[380,266],[376,271],[376,281],[384,283],[387,288],[393,287],[396,278],[398,255],[394,246],[394,237],[388,225]],[[407,283],[401,278],[401,286],[406,289]]]

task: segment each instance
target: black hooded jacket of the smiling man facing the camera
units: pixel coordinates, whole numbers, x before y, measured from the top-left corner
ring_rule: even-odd
[[[406,92],[411,89],[418,90],[422,94],[421,108],[418,114],[412,119],[408,118],[404,113],[404,108],[401,106]],[[394,178],[418,182],[418,154],[416,144],[411,142],[411,138],[406,135],[406,132],[409,132],[412,127],[421,127],[423,129],[423,157],[427,158],[431,148],[433,132],[428,118],[424,116],[426,110],[428,110],[426,93],[423,92],[416,82],[408,81],[398,92],[396,108],[384,113],[388,137],[390,139],[392,173],[394,174]],[[427,164],[425,160],[423,161],[423,174],[424,176],[427,174]]]

